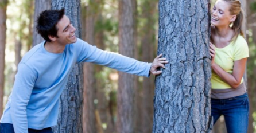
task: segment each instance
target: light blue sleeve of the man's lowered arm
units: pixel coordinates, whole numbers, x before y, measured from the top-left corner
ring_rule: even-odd
[[[28,132],[26,106],[29,103],[35,81],[35,73],[27,65],[20,63],[18,65],[17,75],[15,75],[10,107],[11,120],[13,121],[13,127],[16,133]]]

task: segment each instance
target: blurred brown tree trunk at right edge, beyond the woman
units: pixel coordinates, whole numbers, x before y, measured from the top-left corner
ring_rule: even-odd
[[[247,30],[246,30],[246,38],[247,43],[249,44],[250,50],[250,57],[247,61],[247,77],[248,77],[248,96],[249,96],[249,103],[250,103],[250,117],[249,117],[249,127],[248,132],[255,132],[255,91],[256,91],[256,84],[255,84],[255,74],[256,74],[256,67],[255,67],[255,45],[256,45],[256,1],[255,0],[248,0],[247,2],[247,14],[246,14],[246,21],[247,21]]]

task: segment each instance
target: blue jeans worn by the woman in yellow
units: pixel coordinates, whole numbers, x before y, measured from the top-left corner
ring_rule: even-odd
[[[247,132],[249,121],[249,99],[247,93],[229,99],[211,99],[214,124],[224,115],[228,133]]]

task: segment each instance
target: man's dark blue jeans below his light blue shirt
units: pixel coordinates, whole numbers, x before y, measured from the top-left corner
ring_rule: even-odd
[[[42,130],[34,130],[34,129],[28,128],[28,132],[29,133],[53,133],[51,127],[44,128]],[[0,123],[0,133],[15,133],[13,124]]]

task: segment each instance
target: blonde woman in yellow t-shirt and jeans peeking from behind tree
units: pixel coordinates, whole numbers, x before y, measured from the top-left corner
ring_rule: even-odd
[[[239,0],[217,0],[211,11],[212,116],[224,115],[227,132],[246,133],[249,100],[243,73],[249,50],[243,38]]]

